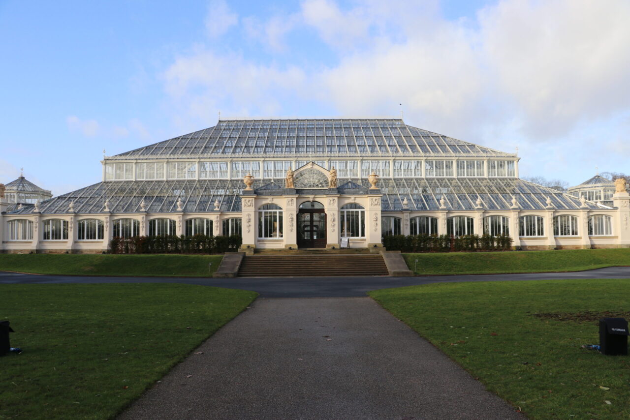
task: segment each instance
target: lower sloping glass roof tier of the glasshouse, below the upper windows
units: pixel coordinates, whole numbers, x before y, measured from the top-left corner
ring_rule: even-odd
[[[367,179],[340,179],[340,194],[366,193],[370,186]],[[507,178],[409,178],[381,179],[379,187],[382,210],[399,211],[402,202],[408,198],[411,211],[438,210],[440,198],[444,197],[449,210],[474,210],[479,196],[486,210],[509,210],[512,195],[521,210],[544,210],[547,196],[558,210],[580,208],[580,199],[551,188]],[[101,213],[105,201],[114,213],[140,212],[144,200],[149,213],[176,212],[176,202],[181,198],[185,212],[214,212],[214,203],[219,201],[221,212],[241,212],[241,198],[244,184],[240,180],[207,181],[115,181],[93,184],[81,190],[42,201],[40,211],[45,214],[68,213],[71,201],[77,213]],[[260,195],[281,194],[282,186],[256,179],[253,188]],[[326,190],[297,190],[297,193],[313,195],[326,193]],[[588,208],[598,207],[587,201]],[[18,209],[9,207],[9,214],[33,212],[33,205]]]

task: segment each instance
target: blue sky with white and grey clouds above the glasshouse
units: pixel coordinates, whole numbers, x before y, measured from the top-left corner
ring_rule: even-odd
[[[0,182],[227,117],[400,116],[520,176],[630,172],[627,0],[0,0]],[[399,105],[402,104],[402,105]]]

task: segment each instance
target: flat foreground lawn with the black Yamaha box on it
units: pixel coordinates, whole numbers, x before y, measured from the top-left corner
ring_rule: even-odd
[[[441,283],[370,296],[531,419],[630,418],[630,358],[581,348],[599,344],[597,321],[570,320],[628,317],[630,279]],[[564,321],[536,316],[558,313]]]

